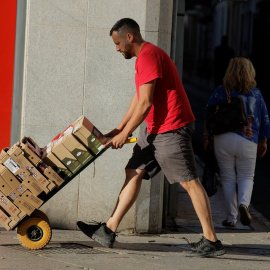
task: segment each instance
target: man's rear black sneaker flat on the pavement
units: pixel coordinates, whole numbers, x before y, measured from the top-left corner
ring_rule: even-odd
[[[191,245],[191,252],[187,253],[187,257],[216,257],[225,253],[226,250],[220,240],[211,242],[202,237],[198,243]]]

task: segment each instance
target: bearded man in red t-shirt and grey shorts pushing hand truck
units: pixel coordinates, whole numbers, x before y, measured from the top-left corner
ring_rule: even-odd
[[[116,50],[126,59],[137,57],[136,94],[116,129],[106,134],[113,139],[104,147],[122,148],[131,133],[147,123],[126,166],[126,180],[116,207],[106,223],[88,225],[77,222],[89,237],[106,247],[113,247],[115,232],[139,194],[142,179],[163,171],[168,181],[180,183],[187,190],[200,219],[204,236],[192,245],[188,256],[213,257],[225,253],[217,240],[208,197],[196,171],[192,148],[194,115],[171,58],[157,46],[145,42],[139,25],[132,19],[119,20],[110,35]]]

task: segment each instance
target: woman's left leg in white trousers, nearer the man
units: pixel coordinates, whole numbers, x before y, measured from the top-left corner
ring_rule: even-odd
[[[228,222],[236,222],[238,215],[234,156],[235,135],[234,133],[225,133],[215,136],[214,140]]]

